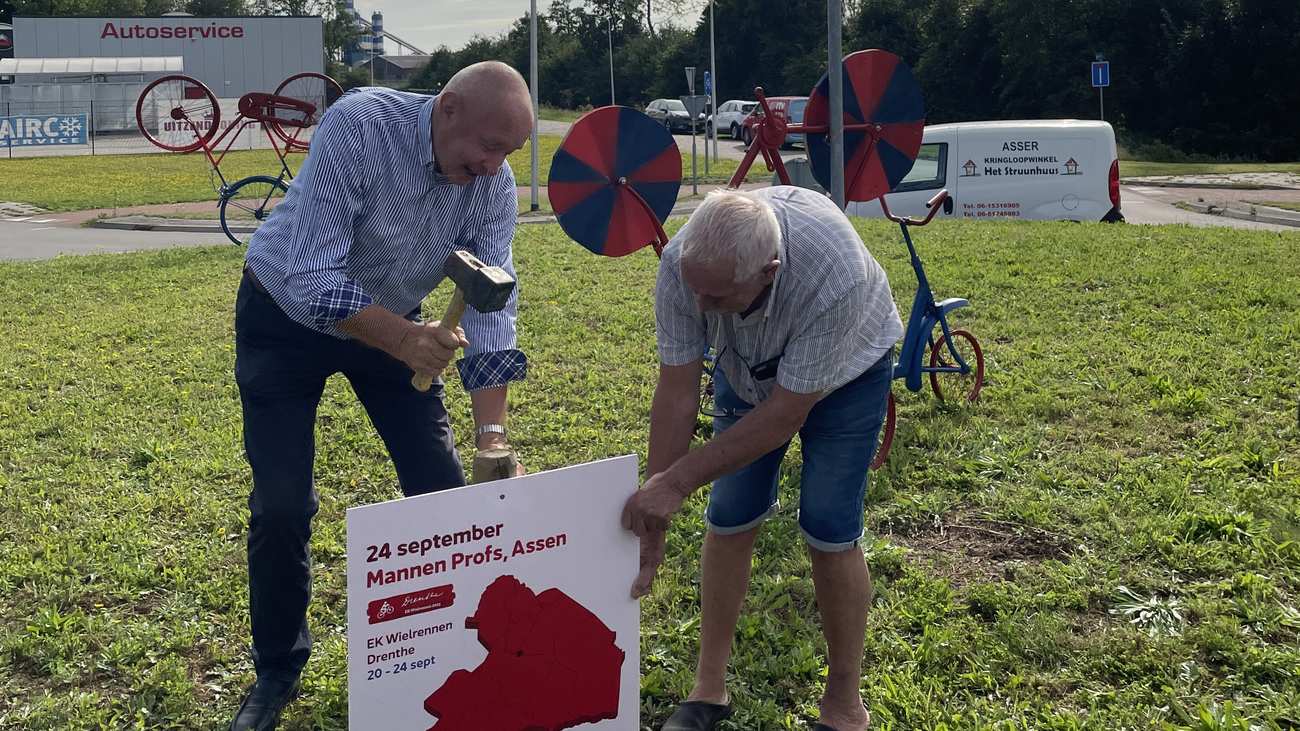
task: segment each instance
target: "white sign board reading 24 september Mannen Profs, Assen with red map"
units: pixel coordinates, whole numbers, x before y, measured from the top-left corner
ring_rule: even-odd
[[[348,727],[640,727],[634,455],[347,511]]]

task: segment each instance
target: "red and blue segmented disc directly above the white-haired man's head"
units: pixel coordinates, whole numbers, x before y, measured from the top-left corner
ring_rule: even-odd
[[[668,130],[636,109],[602,107],[564,135],[546,193],[569,238],[623,256],[659,242],[680,187],[681,152]]]

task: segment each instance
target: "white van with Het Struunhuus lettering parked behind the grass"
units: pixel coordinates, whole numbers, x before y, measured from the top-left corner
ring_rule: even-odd
[[[915,165],[889,194],[889,209],[924,216],[926,202],[945,187],[952,199],[937,219],[1124,220],[1115,131],[1106,122],[927,126]],[[846,212],[881,216],[875,200],[850,203]]]

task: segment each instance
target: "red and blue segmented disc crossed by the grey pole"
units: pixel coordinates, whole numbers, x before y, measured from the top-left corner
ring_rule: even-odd
[[[878,48],[844,57],[844,193],[846,200],[875,200],[911,170],[926,131],[926,101],[911,68]],[[822,77],[803,116],[810,127],[831,124],[831,82]],[[849,125],[871,125],[849,131]],[[812,177],[831,189],[828,133],[807,135]],[[875,140],[872,143],[872,139]]]

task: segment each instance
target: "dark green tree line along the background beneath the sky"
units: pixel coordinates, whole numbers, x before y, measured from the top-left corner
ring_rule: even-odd
[[[686,94],[682,69],[708,68],[707,5],[681,29],[654,23],[653,3],[555,0],[538,13],[541,101],[608,104],[611,44],[619,104]],[[755,86],[807,94],[826,72],[826,12],[824,0],[715,0],[719,103],[751,99]],[[486,59],[526,75],[528,26],[525,14],[497,36],[439,48],[411,86],[437,88]],[[1130,147],[1300,159],[1296,0],[846,0],[844,51],[862,48],[911,65],[931,124],[1096,118],[1100,55],[1106,120]]]

